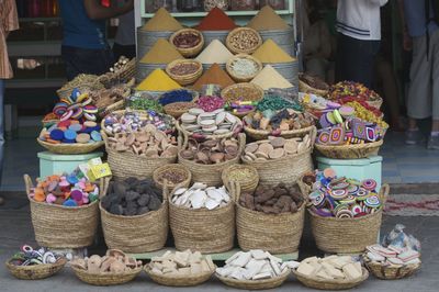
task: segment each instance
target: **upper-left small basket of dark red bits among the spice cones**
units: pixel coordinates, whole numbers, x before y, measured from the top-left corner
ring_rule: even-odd
[[[176,46],[183,57],[193,57],[203,48],[204,37],[200,31],[183,29],[173,33],[169,42]]]

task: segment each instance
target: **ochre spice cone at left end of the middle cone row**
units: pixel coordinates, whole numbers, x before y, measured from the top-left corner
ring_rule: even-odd
[[[176,59],[184,57],[165,38],[159,38],[140,59],[143,64],[169,64]]]

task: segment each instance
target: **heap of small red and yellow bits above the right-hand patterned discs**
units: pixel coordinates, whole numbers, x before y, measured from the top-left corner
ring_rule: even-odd
[[[331,86],[328,99],[338,102],[344,102],[346,99],[350,101],[363,101],[378,110],[380,110],[383,103],[382,98],[375,91],[353,81],[341,81]]]

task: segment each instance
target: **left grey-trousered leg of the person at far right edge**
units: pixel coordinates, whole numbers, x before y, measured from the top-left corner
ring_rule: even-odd
[[[426,38],[413,38],[413,60],[410,85],[407,94],[408,130],[406,143],[419,144],[424,141],[416,120],[431,116],[431,63],[427,59]]]

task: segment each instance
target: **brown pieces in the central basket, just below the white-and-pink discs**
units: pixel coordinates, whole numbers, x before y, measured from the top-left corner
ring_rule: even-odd
[[[188,147],[180,151],[181,158],[201,165],[222,164],[235,159],[238,155],[239,146],[236,138],[213,138],[204,142],[190,138]]]

